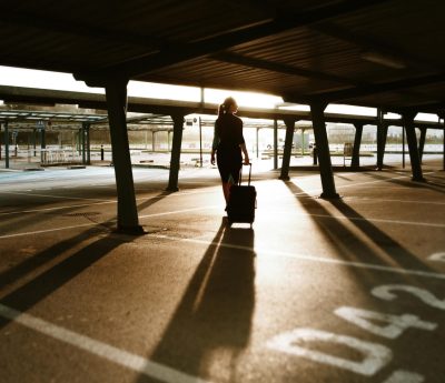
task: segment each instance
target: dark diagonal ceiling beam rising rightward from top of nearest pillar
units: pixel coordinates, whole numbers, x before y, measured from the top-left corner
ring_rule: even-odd
[[[168,47],[161,49],[158,53],[138,57],[116,65],[111,64],[91,72],[75,73],[75,78],[85,80],[87,83],[91,83],[91,85],[100,85],[100,79],[106,79],[110,75],[134,79],[160,68],[214,54],[230,47],[277,34],[294,28],[329,20],[333,17],[357,11],[384,1],[388,0],[344,0],[296,14],[281,14],[274,20],[207,39]]]

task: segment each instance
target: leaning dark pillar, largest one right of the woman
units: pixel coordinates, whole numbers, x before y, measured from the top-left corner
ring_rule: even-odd
[[[310,104],[313,118],[315,144],[317,145],[319,170],[322,178],[323,193],[322,198],[339,198],[335,190],[334,172],[330,162],[329,142],[327,140],[324,102],[314,102]]]

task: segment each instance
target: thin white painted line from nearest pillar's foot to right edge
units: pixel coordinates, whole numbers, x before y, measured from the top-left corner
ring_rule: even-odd
[[[150,238],[164,239],[164,240],[168,240],[168,241],[197,243],[197,244],[202,244],[202,245],[207,245],[207,246],[208,245],[219,245],[220,248],[245,250],[245,251],[249,251],[249,252],[255,252],[257,254],[257,256],[259,256],[259,255],[268,256],[268,258],[284,256],[284,258],[296,259],[299,261],[330,263],[330,264],[343,265],[343,266],[384,271],[384,272],[389,272],[389,273],[395,273],[395,274],[417,275],[417,276],[445,280],[445,273],[435,273],[435,272],[422,271],[422,270],[407,270],[407,269],[384,266],[384,265],[379,265],[379,264],[370,264],[370,263],[363,263],[363,262],[350,262],[350,261],[329,259],[329,258],[325,258],[325,256],[295,254],[295,253],[289,253],[289,252],[285,252],[285,251],[271,250],[271,249],[258,250],[258,249],[254,249],[254,248],[249,248],[249,246],[243,246],[243,245],[230,244],[230,243],[217,243],[214,241],[198,240],[198,239],[192,239],[192,238],[180,238],[180,236],[161,235],[161,234],[150,234]]]

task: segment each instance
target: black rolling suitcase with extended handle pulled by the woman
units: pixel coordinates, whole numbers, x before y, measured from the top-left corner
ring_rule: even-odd
[[[247,185],[241,185],[243,168],[239,171],[238,184],[230,188],[229,202],[227,204],[227,219],[229,225],[234,222],[254,223],[255,209],[257,208],[257,191],[250,185],[251,163],[249,164],[249,181]]]

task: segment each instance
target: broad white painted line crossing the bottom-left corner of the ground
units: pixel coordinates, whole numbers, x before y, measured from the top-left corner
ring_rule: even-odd
[[[41,334],[68,343],[75,347],[103,357],[112,363],[134,370],[138,373],[169,383],[205,383],[206,381],[188,375],[160,363],[152,362],[142,356],[120,350],[110,344],[93,340],[89,336],[63,329],[39,318],[22,313],[14,309],[0,304],[0,315],[32,329]]]

